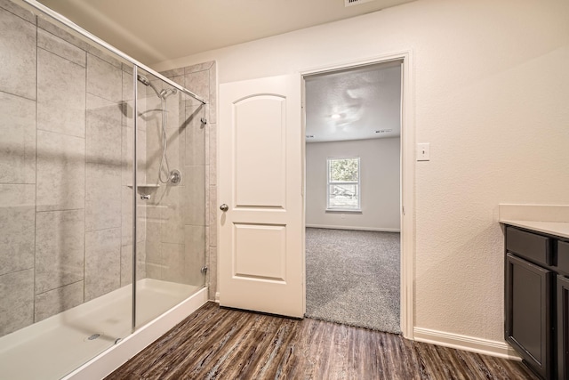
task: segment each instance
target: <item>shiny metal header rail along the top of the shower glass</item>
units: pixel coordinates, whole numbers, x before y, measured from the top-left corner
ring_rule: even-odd
[[[81,28],[75,22],[69,20],[65,16],[62,16],[60,13],[53,11],[49,7],[45,6],[44,4],[38,3],[36,0],[21,0],[21,1],[23,1],[25,4],[28,4],[29,7],[33,8],[39,12],[43,12],[43,13],[47,14],[48,16],[52,17],[52,19],[59,21],[61,24],[65,25],[66,27],[73,29],[74,31],[76,31],[76,33],[80,34],[81,36],[84,36],[88,40],[91,40],[95,44],[99,44],[101,47],[107,49],[109,52],[115,53],[120,58],[122,58],[124,61],[130,62],[132,65],[137,66],[140,69],[143,69],[148,74],[151,74],[154,77],[157,77],[158,79],[163,80],[168,85],[172,85],[172,87],[180,90],[181,93],[187,94],[188,96],[196,99],[196,101],[199,101],[202,104],[207,103],[207,101],[205,101],[204,98],[202,98],[201,96],[196,95],[196,93],[192,93],[186,87],[178,85],[176,82],[172,81],[171,79],[168,79],[167,77],[164,77],[162,74],[158,73],[157,71],[150,69],[145,64],[140,63],[139,61],[136,61],[130,55],[121,52],[112,44],[106,43],[105,41],[101,40],[98,36],[95,36],[92,33],[85,30],[84,28]]]

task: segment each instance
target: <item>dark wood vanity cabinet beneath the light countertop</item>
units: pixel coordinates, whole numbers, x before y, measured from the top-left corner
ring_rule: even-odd
[[[566,240],[506,227],[504,336],[544,379],[569,380]]]

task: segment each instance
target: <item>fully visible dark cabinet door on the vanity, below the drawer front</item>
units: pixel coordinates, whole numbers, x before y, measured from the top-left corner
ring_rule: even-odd
[[[509,344],[535,372],[551,374],[551,282],[554,273],[506,255],[506,325]]]

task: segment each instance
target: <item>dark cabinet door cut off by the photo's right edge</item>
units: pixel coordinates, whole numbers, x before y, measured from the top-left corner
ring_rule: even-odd
[[[557,378],[568,379],[569,279],[557,276]]]

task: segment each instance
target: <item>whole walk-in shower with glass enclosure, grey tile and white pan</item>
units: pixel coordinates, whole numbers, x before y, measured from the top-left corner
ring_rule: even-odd
[[[206,299],[196,76],[164,77],[34,0],[0,0],[0,56],[0,378],[128,358]]]

